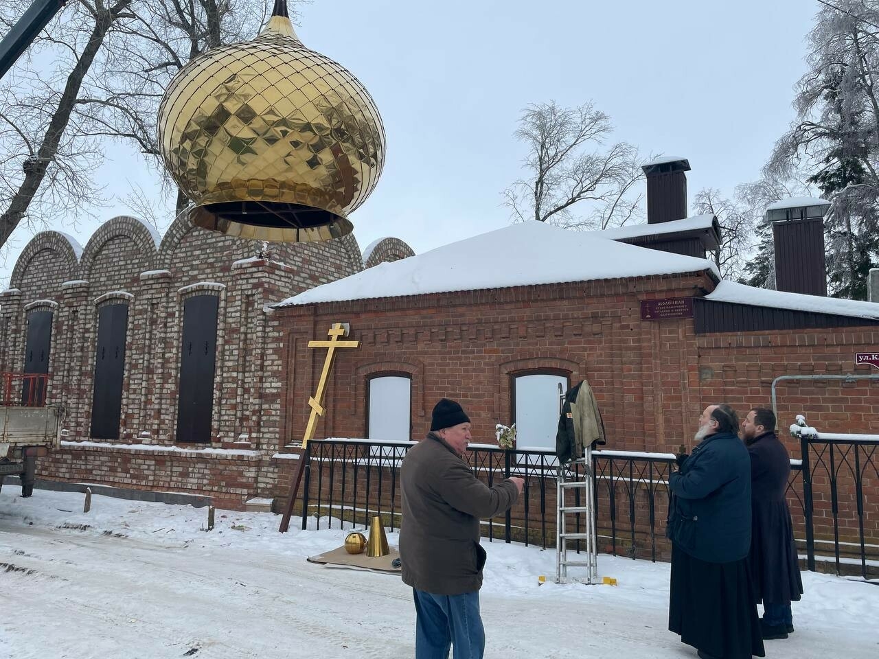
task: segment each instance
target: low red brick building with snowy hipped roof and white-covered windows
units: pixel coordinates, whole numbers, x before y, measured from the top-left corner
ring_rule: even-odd
[[[708,404],[729,402],[744,417],[752,406],[770,406],[773,388],[780,437],[794,458],[800,445],[785,429],[798,414],[822,431],[879,431],[879,380],[840,377],[870,374],[870,366],[855,364],[855,354],[875,352],[879,345],[879,304],[720,281],[704,258],[655,249],[663,235],[693,226],[710,231],[713,222],[669,221],[654,234],[653,249],[617,242],[642,241],[642,235],[633,235],[635,228],[608,240],[539,223],[514,225],[275,305],[272,322],[285,332],[282,434],[298,438],[305,430],[309,409],[303,402],[323,366],[323,351],[305,345],[334,322],[350,323],[350,337],[360,340],[360,348],[336,358],[318,438],[418,439],[429,429],[432,406],[449,396],[467,410],[475,442],[493,444],[495,424],[515,422],[519,449],[551,453],[559,386],[566,390],[580,380],[589,381],[599,402],[606,451],[677,453],[679,445],[692,450],[697,419]],[[781,376],[797,379],[776,380]],[[853,463],[852,452],[846,455]],[[358,476],[357,458],[333,460],[339,462],[335,484],[325,458],[317,463],[323,482],[312,467],[311,513],[326,514],[334,500],[341,507],[336,515],[344,514],[343,508],[358,511],[367,496],[373,510],[400,510],[399,495],[389,485],[398,467],[393,460],[371,462],[372,485],[362,466]],[[285,496],[297,461],[278,462],[274,493]],[[607,467],[606,460],[603,464]],[[866,541],[867,555],[875,557],[870,547],[879,545],[876,466],[875,455],[861,463],[860,494],[854,464],[840,461],[834,475],[818,469],[813,474],[814,532],[824,555],[827,547],[832,554],[836,537],[846,551]],[[383,494],[377,472],[383,472]],[[514,537],[551,543],[555,472],[541,475],[528,467],[519,474],[531,474],[532,490],[512,511]],[[616,477],[616,485],[605,480],[599,486],[599,547],[667,557],[664,477],[655,476],[661,490],[656,496],[628,482],[628,469]],[[639,477],[646,472],[636,472]],[[358,480],[354,487],[360,494],[352,489]],[[802,490],[801,477],[791,491],[799,539],[805,537]],[[615,532],[611,509],[620,520]],[[631,532],[622,521],[630,515],[640,520]],[[857,554],[844,554],[843,560],[857,560]]]

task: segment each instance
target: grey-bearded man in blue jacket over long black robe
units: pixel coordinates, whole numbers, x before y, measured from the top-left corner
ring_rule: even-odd
[[[672,540],[668,628],[701,659],[766,656],[748,573],[751,463],[728,405],[699,419],[693,454],[679,456],[666,535]]]

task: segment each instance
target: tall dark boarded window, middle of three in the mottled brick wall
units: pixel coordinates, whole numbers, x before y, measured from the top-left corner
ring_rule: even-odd
[[[107,304],[98,309],[98,350],[91,398],[91,437],[96,439],[119,439],[127,329],[127,304]]]

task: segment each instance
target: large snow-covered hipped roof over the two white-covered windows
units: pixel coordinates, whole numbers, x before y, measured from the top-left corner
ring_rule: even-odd
[[[704,258],[648,250],[527,221],[376,265],[275,306],[704,270],[717,272]]]

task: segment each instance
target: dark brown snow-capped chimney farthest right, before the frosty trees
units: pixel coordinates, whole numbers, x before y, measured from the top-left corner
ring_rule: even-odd
[[[827,295],[824,216],[829,201],[784,199],[766,208],[775,245],[775,288],[788,293]]]

